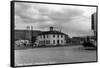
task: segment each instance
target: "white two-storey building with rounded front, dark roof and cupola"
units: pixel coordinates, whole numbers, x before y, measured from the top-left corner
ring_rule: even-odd
[[[39,46],[46,45],[46,46],[56,46],[56,45],[65,45],[65,37],[67,35],[60,32],[53,30],[53,27],[50,27],[50,31],[42,32],[37,37],[37,43]]]

